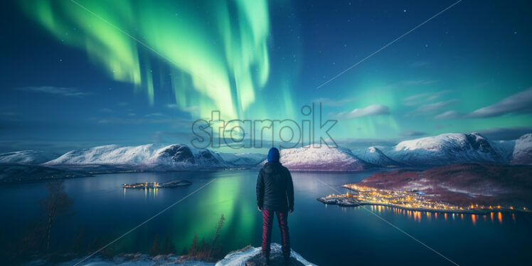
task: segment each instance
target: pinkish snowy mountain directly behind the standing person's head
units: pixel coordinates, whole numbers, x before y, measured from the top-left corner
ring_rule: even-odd
[[[311,146],[282,149],[280,162],[290,170],[316,171],[361,171],[373,165],[358,159],[351,150],[344,148],[330,148],[326,145],[316,148]],[[265,164],[262,161],[262,164]]]

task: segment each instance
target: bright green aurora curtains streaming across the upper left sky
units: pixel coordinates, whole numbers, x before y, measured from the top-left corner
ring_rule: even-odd
[[[176,104],[198,106],[200,117],[211,110],[243,117],[269,77],[265,0],[21,3],[55,38],[86,50],[110,77],[144,91],[151,105],[154,55],[172,70]]]

